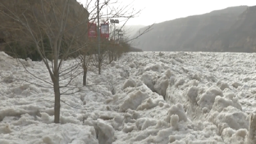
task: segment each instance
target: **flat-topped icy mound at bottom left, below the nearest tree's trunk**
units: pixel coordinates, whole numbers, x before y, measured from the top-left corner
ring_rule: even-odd
[[[98,143],[95,129],[91,126],[77,126],[76,124],[30,124],[26,127],[9,127],[13,129],[12,135],[2,134],[0,143]],[[21,135],[20,131],[22,131]]]

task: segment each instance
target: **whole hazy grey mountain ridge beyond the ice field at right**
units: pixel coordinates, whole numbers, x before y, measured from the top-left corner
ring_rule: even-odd
[[[230,7],[162,22],[152,28],[136,40],[137,48],[143,51],[256,52],[256,6]],[[147,27],[141,31],[144,29]]]

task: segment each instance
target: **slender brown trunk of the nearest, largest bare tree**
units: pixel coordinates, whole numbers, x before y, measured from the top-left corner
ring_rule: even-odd
[[[59,74],[58,74],[59,75]],[[54,89],[54,123],[60,123],[60,83],[59,76],[54,76],[53,89]]]

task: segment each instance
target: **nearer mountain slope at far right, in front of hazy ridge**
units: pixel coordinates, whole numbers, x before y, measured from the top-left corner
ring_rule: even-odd
[[[211,36],[198,47],[222,52],[256,52],[256,6],[248,7],[230,29]]]

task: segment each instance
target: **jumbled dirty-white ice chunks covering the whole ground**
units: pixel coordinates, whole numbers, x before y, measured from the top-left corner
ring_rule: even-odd
[[[90,71],[88,87],[61,96],[61,124],[53,124],[53,90],[22,68],[50,81],[44,64],[20,63],[0,52],[0,143],[245,143],[256,106],[255,58],[124,54],[102,75]]]

